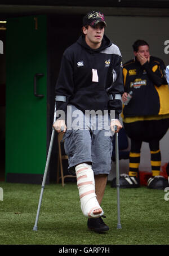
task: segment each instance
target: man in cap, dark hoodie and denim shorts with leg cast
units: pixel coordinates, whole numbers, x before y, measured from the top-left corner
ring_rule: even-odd
[[[104,212],[100,205],[111,169],[110,131],[114,131],[114,125],[117,133],[122,128],[118,120],[122,111],[122,57],[104,35],[105,27],[101,12],[91,11],[84,16],[82,36],[63,54],[55,90],[54,128],[65,132],[68,169],[77,176],[87,226],[97,232],[109,230],[101,218]]]

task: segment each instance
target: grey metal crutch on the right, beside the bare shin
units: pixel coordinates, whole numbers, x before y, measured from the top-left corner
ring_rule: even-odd
[[[114,125],[114,131],[117,131],[117,125]],[[117,228],[122,228],[120,217],[120,199],[119,199],[119,150],[118,150],[118,132],[115,132],[115,170],[117,187]]]

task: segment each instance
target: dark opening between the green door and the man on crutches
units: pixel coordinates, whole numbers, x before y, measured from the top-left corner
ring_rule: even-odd
[[[55,98],[54,90],[59,75],[61,58],[64,50],[72,45],[79,36],[81,36],[83,15],[52,15],[47,18],[47,49],[48,49],[48,120],[47,120],[47,145],[50,144],[52,132],[52,123],[54,121]],[[54,147],[50,162],[50,182],[56,182],[57,171],[57,134],[55,136]],[[64,166],[64,172],[67,173],[67,165]]]

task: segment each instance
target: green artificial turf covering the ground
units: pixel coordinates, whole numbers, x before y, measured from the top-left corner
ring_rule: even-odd
[[[1,182],[1,245],[167,245],[169,201],[163,190],[120,189],[121,225],[117,229],[117,190],[106,185],[102,207],[110,230],[87,229],[75,183],[46,185],[33,231],[41,185]]]

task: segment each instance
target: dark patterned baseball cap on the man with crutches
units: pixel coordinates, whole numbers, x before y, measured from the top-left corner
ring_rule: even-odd
[[[91,11],[86,14],[86,16],[83,17],[83,26],[90,25],[91,27],[95,27],[97,23],[102,22],[104,23],[104,26],[106,27],[107,24],[104,19],[104,14],[100,11]]]

